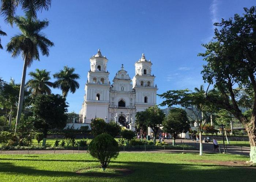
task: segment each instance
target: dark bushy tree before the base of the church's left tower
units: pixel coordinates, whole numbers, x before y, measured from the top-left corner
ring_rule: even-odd
[[[99,134],[106,132],[106,122],[102,118],[91,119],[91,134],[96,137]]]

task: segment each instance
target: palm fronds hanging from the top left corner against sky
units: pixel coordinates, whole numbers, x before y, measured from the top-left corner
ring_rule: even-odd
[[[20,5],[25,15],[36,19],[37,11],[42,11],[42,9],[48,11],[51,6],[51,1],[52,0],[0,0],[0,15],[3,15],[4,20],[12,25],[15,19],[16,9]]]

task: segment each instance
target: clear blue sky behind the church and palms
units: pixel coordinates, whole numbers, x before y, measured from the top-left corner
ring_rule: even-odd
[[[61,2],[61,3],[60,3]],[[255,0],[52,0],[50,11],[38,13],[47,18],[49,27],[43,32],[55,44],[49,57],[34,61],[27,74],[36,68],[54,74],[63,66],[74,67],[80,74],[80,88],[69,93],[68,110],[79,112],[83,102],[89,58],[101,49],[108,59],[110,81],[124,64],[131,77],[134,63],[142,53],[153,63],[152,73],[161,94],[167,90],[199,87],[203,84],[201,44],[213,36],[213,23],[221,18],[242,14],[243,7],[255,5]],[[18,9],[18,14],[22,12]],[[8,36],[1,37],[5,46],[19,30],[4,23],[0,26]],[[0,50],[0,77],[6,81],[14,78],[20,82],[22,58],[11,58]],[[26,81],[29,80],[27,75]],[[52,79],[54,81],[54,79]],[[60,90],[53,93],[61,94]],[[161,99],[157,98],[159,104]]]

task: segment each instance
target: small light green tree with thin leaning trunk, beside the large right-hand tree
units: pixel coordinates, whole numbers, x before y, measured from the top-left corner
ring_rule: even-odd
[[[223,131],[225,132],[227,143],[229,144],[229,140],[227,139],[227,129],[230,129],[230,122],[232,120],[232,116],[230,112],[225,109],[219,110],[217,112],[216,123],[220,126],[221,124],[225,125]]]

